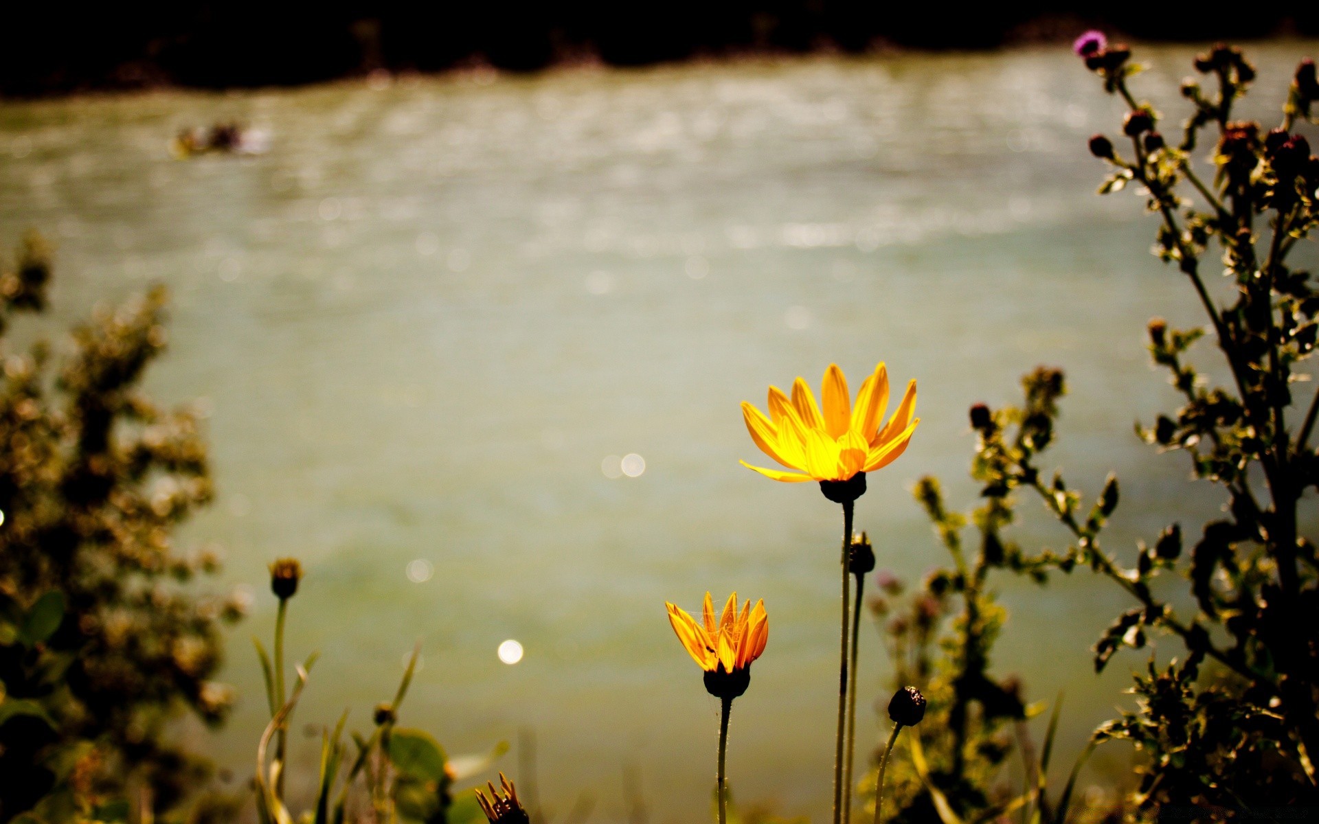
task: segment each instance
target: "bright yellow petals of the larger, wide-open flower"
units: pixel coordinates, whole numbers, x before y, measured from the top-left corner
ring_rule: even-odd
[[[823,413],[802,378],[793,382],[791,399],[777,386],[769,388],[769,418],[743,401],[743,417],[756,446],[797,472],[740,463],[776,481],[845,481],[857,472],[873,472],[897,460],[921,423],[919,418],[911,418],[915,410],[915,381],[911,381],[898,410],[880,426],[889,405],[889,373],[884,364],[861,384],[856,406],[851,405],[847,378],[838,364],[824,370],[822,390]]]

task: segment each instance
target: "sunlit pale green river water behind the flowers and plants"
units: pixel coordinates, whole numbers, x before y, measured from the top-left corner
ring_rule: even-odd
[[[1314,51],[1253,49],[1270,123]],[[1175,119],[1190,54],[1145,55],[1140,88]],[[352,707],[365,725],[421,639],[405,724],[451,753],[534,729],[561,813],[588,792],[594,820],[623,820],[634,766],[653,823],[700,820],[718,704],[663,601],[736,588],[765,599],[772,633],[733,713],[733,786],[819,821],[840,518],[737,465],[762,460],[739,401],[818,384],[831,360],[853,388],[878,360],[919,381],[913,446],[857,509],[909,577],[943,560],[911,483],[938,473],[971,502],[967,406],[1013,399],[1038,363],[1068,369],[1068,479],[1122,479],[1109,546],[1216,506],[1188,498],[1184,456],[1132,435],[1174,402],[1146,319],[1199,318],[1146,253],[1141,203],[1093,195],[1084,141],[1119,111],[1062,49],[11,103],[0,232],[57,241],[51,330],[173,291],[149,390],[203,399],[219,486],[183,538],[226,546],[226,583],[255,596],[224,672],[241,703],[202,740],[224,763],[251,770],[249,637],[273,620],[265,564],[297,555],[290,649],[322,651],[301,721]],[[228,117],[269,129],[270,152],[170,160],[178,128]],[[644,472],[620,476],[630,454]],[[1024,541],[1063,543],[1024,512]],[[1092,675],[1122,600],[1080,574],[1000,585],[996,666],[1033,699],[1067,690],[1070,763],[1144,659]],[[496,658],[506,638],[517,666]],[[864,642],[871,730],[889,668]]]

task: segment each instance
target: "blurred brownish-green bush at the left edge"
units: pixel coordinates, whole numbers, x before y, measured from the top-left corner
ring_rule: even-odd
[[[177,809],[210,767],[166,733],[224,717],[219,629],[243,612],[187,587],[219,562],[170,535],[211,498],[206,446],[195,414],[138,389],[164,291],[98,310],[55,368],[8,340],[49,282],[30,233],[0,272],[0,821],[121,819],[135,787]]]

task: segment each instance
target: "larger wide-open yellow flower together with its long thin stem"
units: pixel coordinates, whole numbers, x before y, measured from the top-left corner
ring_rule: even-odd
[[[852,518],[856,498],[865,494],[865,473],[882,469],[906,451],[919,418],[915,411],[915,381],[907,384],[902,402],[889,422],[881,426],[889,402],[889,374],[884,364],[874,368],[861,384],[856,405],[847,389],[847,377],[836,364],[824,370],[822,385],[823,411],[815,402],[806,381],[793,381],[793,397],[787,398],[777,386],[769,388],[769,418],[748,402],[743,402],[747,431],[757,447],[783,467],[765,469],[747,461],[741,464],[776,481],[818,481],[826,498],[843,506],[843,551],[839,566],[843,574],[842,618],[839,626],[838,724],[834,748],[834,824],[849,817],[852,779],[849,763],[855,746],[855,701],[848,700],[849,684],[855,680],[848,671],[856,670],[856,646],[849,613],[853,608],[852,575]],[[855,624],[857,618],[852,618]],[[849,661],[851,659],[851,661]],[[849,666],[851,663],[851,666]]]

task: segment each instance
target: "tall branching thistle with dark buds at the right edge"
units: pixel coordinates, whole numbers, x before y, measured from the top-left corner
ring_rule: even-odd
[[[1066,386],[1062,372],[1039,368],[1024,381],[1021,406],[971,410],[977,434],[972,477],[985,500],[973,518],[983,538],[980,562],[1041,581],[1051,571],[1088,568],[1124,591],[1132,608],[1096,642],[1096,671],[1120,649],[1144,649],[1158,635],[1181,647],[1171,661],[1166,653],[1150,657],[1134,675],[1136,708],[1093,737],[1095,744],[1128,740],[1141,753],[1138,787],[1129,799],[1133,815],[1204,820],[1319,804],[1312,761],[1319,754],[1319,558],[1299,529],[1302,504],[1319,485],[1319,455],[1311,446],[1319,394],[1297,388],[1310,380],[1301,365],[1315,347],[1319,291],[1307,272],[1289,264],[1319,223],[1319,158],[1293,131],[1298,120],[1319,113],[1312,109],[1319,99],[1315,67],[1301,63],[1281,125],[1268,131],[1233,119],[1256,76],[1241,51],[1216,46],[1198,55],[1194,67],[1212,91],[1195,79],[1183,83],[1191,111],[1173,145],[1158,132],[1154,107],[1129,91],[1140,71],[1130,50],[1101,40],[1083,51],[1086,65],[1129,111],[1122,140],[1096,134],[1089,141],[1091,152],[1113,169],[1100,194],[1138,187],[1159,221],[1154,253],[1177,265],[1210,322],[1207,330],[1150,322],[1153,360],[1170,373],[1183,403],[1153,426],[1137,426],[1137,434],[1159,451],[1186,452],[1195,479],[1211,484],[1203,494],[1221,501],[1223,517],[1183,527],[1177,513],[1167,513],[1167,527],[1140,543],[1132,566],[1105,550],[1101,535],[1119,504],[1117,479],[1111,476],[1087,504],[1088,496],[1062,473],[1041,468]],[[1115,142],[1129,148],[1119,152]],[[1203,142],[1212,144],[1210,181],[1196,173],[1192,157]],[[1202,261],[1213,250],[1232,286],[1225,306],[1202,274]],[[1225,361],[1227,386],[1190,361],[1204,338]],[[1067,530],[1064,550],[1029,554],[1002,537],[1020,492],[1038,496]],[[921,483],[918,497],[956,555],[963,521],[943,510],[933,480]],[[1306,522],[1312,523],[1312,514]],[[942,592],[960,593],[963,628],[977,620],[985,628],[983,643],[964,629],[964,639],[948,650],[954,661],[987,655],[1001,622],[1001,613],[981,609],[977,618],[972,610],[980,580],[979,567],[968,572],[959,564],[951,579],[936,572],[926,587],[929,610],[939,613]],[[896,643],[918,647],[922,632],[929,630],[904,628],[905,634],[894,633]],[[934,696],[946,696],[942,712],[958,736],[963,721],[955,713],[966,695],[958,679],[966,676],[955,670],[951,686],[940,690],[939,664],[917,658],[914,666],[934,679]],[[975,671],[969,668],[972,678]],[[980,704],[981,719],[997,717],[991,704]],[[981,728],[975,737],[992,741],[985,738],[992,732]],[[991,765],[998,758],[996,750],[981,757]],[[958,751],[943,758],[956,765]],[[940,762],[931,755],[931,763]]]

